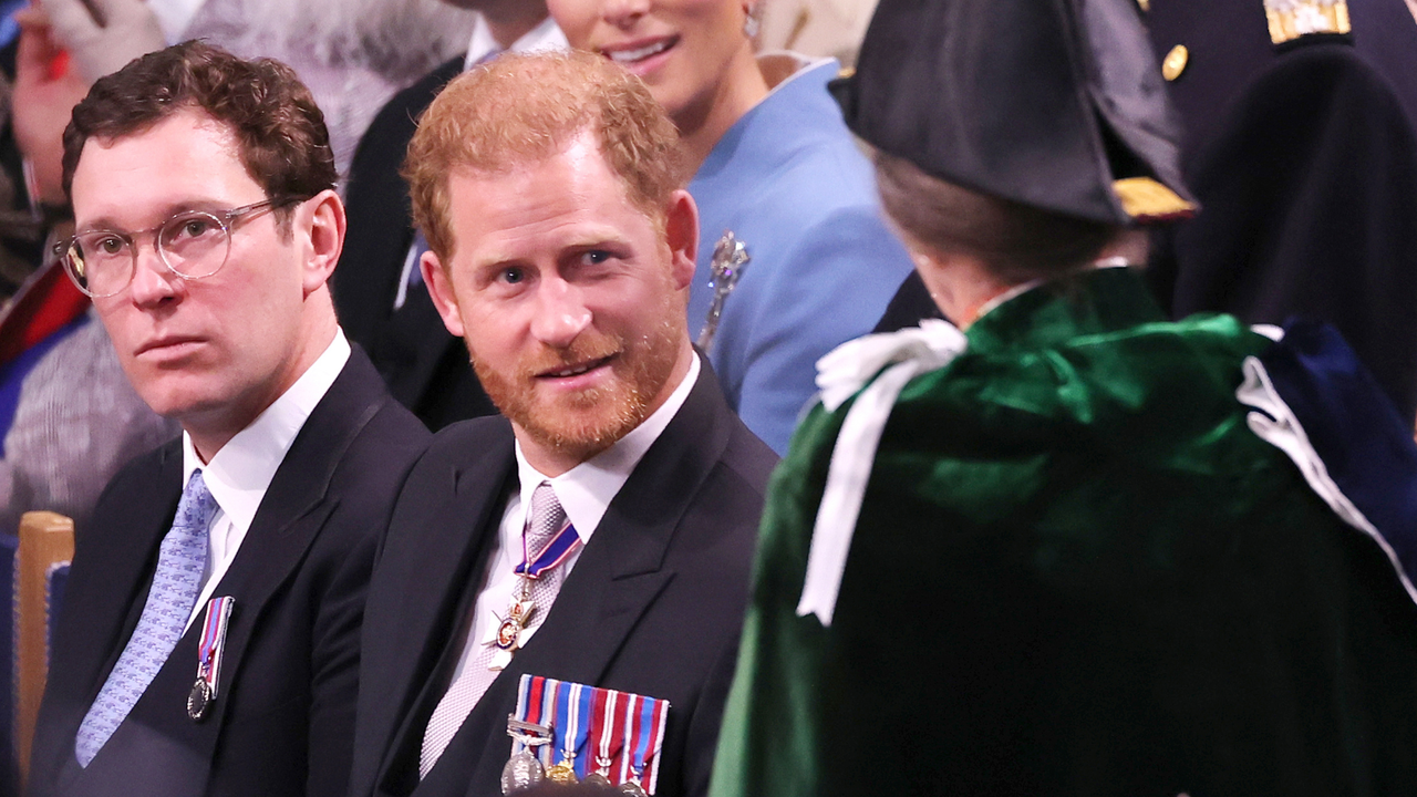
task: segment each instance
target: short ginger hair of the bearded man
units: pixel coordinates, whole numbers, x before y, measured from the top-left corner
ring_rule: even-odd
[[[639,78],[589,52],[504,54],[448,84],[418,121],[404,179],[414,221],[445,265],[453,251],[448,179],[503,173],[591,130],[626,197],[663,223],[684,184],[679,130]]]

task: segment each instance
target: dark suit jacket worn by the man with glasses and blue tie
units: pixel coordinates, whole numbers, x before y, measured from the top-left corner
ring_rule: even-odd
[[[356,347],[296,435],[213,593],[232,596],[235,608],[210,713],[193,722],[186,710],[203,614],[79,769],[79,723],[137,624],[157,546],[177,511],[181,444],[120,471],[94,520],[78,529],[30,794],[343,796],[374,553],[428,437]]]

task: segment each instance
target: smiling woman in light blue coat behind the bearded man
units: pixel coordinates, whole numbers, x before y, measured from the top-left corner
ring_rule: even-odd
[[[701,214],[689,330],[775,451],[815,363],[871,330],[910,258],[826,91],[835,60],[754,54],[754,0],[548,0],[571,45],[649,85],[679,128]]]

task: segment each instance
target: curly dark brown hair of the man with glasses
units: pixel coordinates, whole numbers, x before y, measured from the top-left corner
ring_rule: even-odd
[[[112,142],[183,109],[228,125],[241,165],[268,199],[286,203],[334,187],[324,115],[295,71],[269,58],[247,61],[204,41],[149,52],[101,78],[74,106],[64,130],[64,191],[91,138]],[[278,208],[282,211],[282,208]]]

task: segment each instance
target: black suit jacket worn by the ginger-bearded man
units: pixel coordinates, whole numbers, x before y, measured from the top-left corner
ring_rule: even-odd
[[[462,652],[517,485],[507,421],[444,430],[400,496],[370,587],[350,793],[500,794],[512,753],[507,715],[530,672],[669,699],[657,794],[704,794],[775,461],[704,364],[611,502],[544,624],[419,783],[424,728]]]

